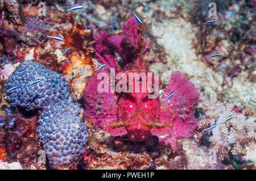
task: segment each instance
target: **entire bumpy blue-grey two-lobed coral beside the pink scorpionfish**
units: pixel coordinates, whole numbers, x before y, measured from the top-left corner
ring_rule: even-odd
[[[81,108],[73,104],[60,74],[24,61],[9,77],[5,92],[12,107],[42,109],[37,133],[52,168],[71,166],[81,156],[88,135],[79,117]]]

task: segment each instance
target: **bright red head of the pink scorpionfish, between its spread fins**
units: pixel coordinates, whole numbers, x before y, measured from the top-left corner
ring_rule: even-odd
[[[118,119],[125,125],[131,141],[145,141],[151,135],[150,129],[159,118],[159,79],[146,70],[125,71],[127,91],[119,94]],[[157,83],[155,85],[155,83]]]

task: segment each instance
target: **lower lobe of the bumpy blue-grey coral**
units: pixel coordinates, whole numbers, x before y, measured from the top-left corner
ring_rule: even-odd
[[[68,168],[85,152],[88,134],[79,113],[79,106],[59,102],[39,117],[36,132],[52,168]]]

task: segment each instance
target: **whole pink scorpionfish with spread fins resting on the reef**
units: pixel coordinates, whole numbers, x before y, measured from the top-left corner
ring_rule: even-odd
[[[157,136],[160,144],[175,150],[177,138],[191,137],[196,129],[194,111],[199,92],[179,71],[171,75],[161,99],[165,100],[171,92],[174,95],[165,102],[159,100],[158,85],[155,85],[159,79],[155,74],[151,74],[154,80],[147,76],[129,79],[130,73],[150,73],[143,62],[143,55],[150,46],[144,39],[144,30],[132,16],[124,24],[123,34],[110,36],[102,31],[94,35],[99,42],[96,56],[105,67],[86,82],[85,117],[112,136],[128,136],[131,141],[147,141],[148,144],[152,144],[152,136]],[[118,63],[115,53],[122,58],[122,64]],[[153,93],[155,98],[150,98]]]

